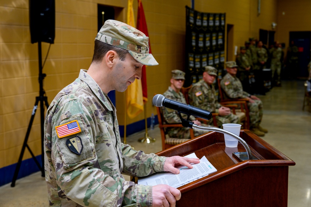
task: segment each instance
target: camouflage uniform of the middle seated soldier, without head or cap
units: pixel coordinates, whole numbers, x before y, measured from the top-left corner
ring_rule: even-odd
[[[217,70],[216,70],[217,71]],[[215,73],[216,74],[216,73]],[[208,85],[204,80],[193,84],[189,91],[190,105],[210,111],[212,113],[219,113],[221,104],[217,101],[214,85]],[[218,127],[222,128],[223,124],[235,123],[239,124],[240,120],[237,115],[229,114],[226,116],[216,116]],[[211,118],[208,124],[213,124],[213,118]]]

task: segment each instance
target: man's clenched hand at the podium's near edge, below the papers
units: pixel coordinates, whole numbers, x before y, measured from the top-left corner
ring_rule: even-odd
[[[152,207],[175,207],[180,198],[181,193],[177,188],[168,185],[152,187]]]

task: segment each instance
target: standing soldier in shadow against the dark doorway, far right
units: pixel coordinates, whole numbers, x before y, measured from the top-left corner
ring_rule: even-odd
[[[298,73],[298,47],[294,41],[290,42],[290,46],[287,48],[286,54],[286,78],[296,78]],[[293,74],[294,77],[290,76]]]

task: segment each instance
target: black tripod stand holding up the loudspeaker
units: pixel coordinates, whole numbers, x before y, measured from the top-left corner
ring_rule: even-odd
[[[11,183],[11,187],[15,186],[15,181],[17,179],[18,176],[18,172],[20,170],[21,167],[21,161],[25,152],[25,148],[27,148],[32,156],[32,158],[34,159],[36,165],[39,167],[40,171],[41,171],[41,176],[44,177],[44,107],[46,106],[46,108],[49,107],[48,104],[48,99],[47,96],[45,96],[45,91],[43,89],[43,80],[46,76],[46,74],[42,73],[42,57],[41,57],[41,42],[38,41],[38,56],[39,56],[39,85],[40,85],[40,91],[39,91],[39,96],[36,97],[36,101],[35,101],[35,105],[32,109],[32,113],[31,113],[31,119],[29,121],[29,125],[28,125],[28,129],[26,132],[26,136],[24,139],[24,143],[23,143],[23,147],[21,148],[21,154],[19,156],[18,162],[17,162],[17,166],[15,168],[15,172],[14,172],[14,176],[12,179],[12,183]],[[33,120],[35,118],[35,113],[37,111],[38,108],[38,104],[40,102],[40,121],[41,121],[41,165],[38,162],[38,160],[35,158],[35,155],[32,153],[31,149],[29,148],[27,141],[29,138],[29,134],[30,134],[30,130],[31,130],[31,126],[33,123]]]

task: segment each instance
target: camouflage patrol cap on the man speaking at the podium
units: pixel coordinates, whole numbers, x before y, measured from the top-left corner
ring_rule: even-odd
[[[123,22],[105,21],[95,39],[126,49],[141,64],[158,65],[153,55],[149,53],[149,37]]]

